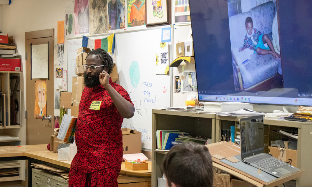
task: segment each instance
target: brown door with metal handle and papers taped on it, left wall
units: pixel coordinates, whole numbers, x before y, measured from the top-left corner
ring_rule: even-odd
[[[26,60],[26,145],[48,144],[53,135],[54,128],[54,42],[53,29],[25,32],[25,45],[27,52]],[[31,46],[39,44],[48,44],[48,79],[31,79],[32,56]],[[36,100],[36,81],[46,82],[46,116],[51,115],[52,119],[43,120],[35,117]]]

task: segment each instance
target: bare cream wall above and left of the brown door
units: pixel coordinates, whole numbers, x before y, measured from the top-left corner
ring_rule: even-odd
[[[0,6],[0,30],[13,36],[17,52],[22,55],[23,101],[26,98],[25,87],[25,32],[54,29],[54,44],[57,43],[57,21],[65,19],[64,2],[67,0],[14,0],[11,5]],[[3,21],[3,24],[1,24]],[[53,93],[54,94],[54,93]],[[25,103],[25,102],[24,102]],[[21,111],[26,110],[23,104]],[[22,117],[23,139],[25,144],[25,117]]]

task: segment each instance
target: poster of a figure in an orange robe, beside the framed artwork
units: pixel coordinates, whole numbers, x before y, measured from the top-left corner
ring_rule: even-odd
[[[135,0],[131,6],[130,22],[131,26],[139,26],[145,24],[145,0]]]

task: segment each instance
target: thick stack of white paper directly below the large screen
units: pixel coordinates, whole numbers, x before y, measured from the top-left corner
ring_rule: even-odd
[[[229,112],[236,111],[242,108],[247,108],[253,110],[253,104],[251,103],[239,103],[239,102],[223,102],[223,103],[213,103],[205,102],[204,111],[208,112]]]

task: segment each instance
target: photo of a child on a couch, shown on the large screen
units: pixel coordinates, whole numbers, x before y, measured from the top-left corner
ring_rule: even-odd
[[[228,0],[235,90],[283,88],[276,1],[234,3]]]

